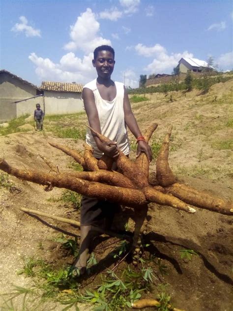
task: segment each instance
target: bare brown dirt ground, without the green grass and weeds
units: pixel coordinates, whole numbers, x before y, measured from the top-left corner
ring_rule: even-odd
[[[186,94],[173,92],[171,97],[171,93],[166,96],[156,93],[146,95],[149,100],[132,105],[142,130],[152,122],[159,124],[151,140],[159,141],[168,126],[174,125],[169,162],[179,180],[228,200],[232,199],[233,189],[232,148],[224,149],[221,142],[228,142],[233,137],[233,129],[228,125],[233,115],[232,91],[233,80],[230,80],[212,86],[207,94],[198,91]],[[87,122],[85,117],[83,122]],[[42,155],[58,166],[60,172],[71,172],[71,158],[51,147],[48,142],[82,150],[82,141],[53,137],[46,132],[46,120],[44,126],[43,133],[31,131],[1,136],[0,157],[18,168],[30,167],[49,172],[48,165],[40,157]],[[135,157],[134,152],[131,157]],[[155,161],[152,161],[151,176],[154,171]],[[79,231],[70,225],[48,218],[31,217],[19,210],[20,207],[26,207],[78,220],[77,210],[61,202],[48,201],[51,197],[60,197],[64,189],[45,191],[42,186],[13,176],[9,179],[15,186],[11,192],[0,187],[1,294],[11,292],[15,285],[30,286],[30,278],[16,273],[23,266],[23,256],[42,258],[56,265],[72,264],[73,257],[66,256],[54,239],[61,233],[79,235]],[[125,217],[118,215],[115,222],[123,223]],[[153,254],[161,258],[167,267],[167,275],[157,280],[154,293],[156,285],[169,283],[168,292],[177,308],[186,311],[232,311],[232,224],[232,216],[199,208],[192,215],[171,207],[150,204],[147,232],[144,235],[150,246],[145,256]],[[108,258],[109,252],[114,249],[111,248],[114,239],[103,239],[102,242],[100,239],[98,245],[94,246],[99,261],[96,273],[116,265],[116,259]],[[181,249],[193,249],[198,255],[192,255],[191,260],[181,259]],[[91,278],[98,280],[98,275]],[[98,283],[96,280],[93,284]],[[83,282],[85,287],[88,278],[84,278]],[[20,299],[15,299],[15,309],[8,310],[23,310]],[[48,303],[37,310],[59,311],[62,308],[64,306]],[[80,310],[84,309],[91,310],[88,306],[80,305]],[[2,310],[7,309],[2,307]]]

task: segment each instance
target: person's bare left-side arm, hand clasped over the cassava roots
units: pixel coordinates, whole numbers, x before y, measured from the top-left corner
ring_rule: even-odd
[[[90,89],[84,88],[82,97],[84,100],[84,108],[87,113],[87,119],[96,132],[101,134],[101,127],[99,122],[99,115],[95,105],[94,94]],[[119,155],[119,150],[116,142],[111,143],[102,143],[99,138],[92,134],[95,140],[95,143],[100,151],[110,157],[115,157]]]

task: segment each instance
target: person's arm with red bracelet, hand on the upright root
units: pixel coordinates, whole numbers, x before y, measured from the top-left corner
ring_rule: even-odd
[[[125,119],[125,123],[127,124],[128,128],[130,129],[130,131],[132,132],[132,134],[138,138],[139,136],[142,136],[142,133],[139,129],[138,123],[134,117],[134,114],[132,112],[131,109],[131,105],[129,102],[129,97],[127,94],[127,91],[124,87],[124,103],[123,103],[123,107],[124,107],[124,119]],[[138,141],[138,150],[137,150],[137,157],[144,152],[147,156],[148,161],[150,162],[152,160],[152,151],[149,147],[149,145],[142,140]]]

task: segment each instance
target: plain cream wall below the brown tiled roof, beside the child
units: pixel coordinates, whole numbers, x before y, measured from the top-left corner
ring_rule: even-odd
[[[44,91],[45,114],[69,114],[84,111],[81,93]]]

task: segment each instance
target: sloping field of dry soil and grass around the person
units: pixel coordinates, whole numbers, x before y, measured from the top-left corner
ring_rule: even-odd
[[[211,86],[205,94],[198,90],[153,93],[146,94],[144,101],[132,103],[142,131],[158,123],[150,140],[154,156],[150,164],[151,179],[162,139],[173,125],[169,163],[178,180],[227,200],[233,198],[232,93],[233,80],[229,80]],[[28,121],[21,118],[19,125],[25,123],[33,125],[30,118]],[[49,172],[42,159],[46,157],[58,167],[58,172],[80,170],[71,157],[48,142],[82,151],[86,124],[85,113],[80,113],[46,116],[43,132],[0,128],[0,157],[22,169]],[[130,157],[135,159],[136,145],[131,135],[130,140]],[[77,254],[78,249],[70,241],[77,238],[79,242],[79,230],[56,220],[29,216],[20,211],[21,207],[79,220],[80,196],[65,189],[45,191],[42,186],[0,171],[2,310],[59,311],[68,310],[66,307],[78,310],[76,301],[80,310],[92,310],[98,305],[98,310],[129,310],[130,303],[139,295],[160,299],[164,306],[160,311],[168,310],[165,309],[168,303],[186,311],[233,309],[232,216],[199,208],[192,215],[150,204],[145,252],[138,266],[133,266],[127,258],[121,261],[127,243],[101,236],[93,240],[89,275],[74,281],[64,271],[67,272],[67,265],[72,264]],[[122,211],[115,219],[115,226],[130,234],[131,217],[130,209]],[[63,272],[58,277],[53,271],[59,269]],[[111,287],[116,291],[122,287],[117,299],[100,289],[102,282],[105,286],[119,280],[118,287]],[[125,290],[122,283],[132,292]],[[16,291],[15,286],[18,286]],[[91,296],[94,291],[98,297]],[[123,292],[128,292],[128,296],[124,297]],[[106,302],[109,309],[104,309]]]

